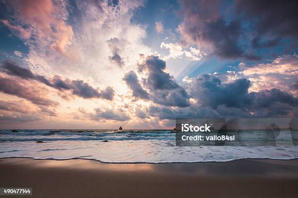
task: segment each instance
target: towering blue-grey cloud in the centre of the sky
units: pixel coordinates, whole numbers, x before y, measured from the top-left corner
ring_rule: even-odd
[[[143,57],[143,59],[143,62],[138,64],[138,70],[139,72],[145,71],[147,74],[147,78],[143,79],[143,84],[150,90],[150,99],[166,106],[189,106],[189,96],[186,90],[164,71],[166,62],[157,56]]]

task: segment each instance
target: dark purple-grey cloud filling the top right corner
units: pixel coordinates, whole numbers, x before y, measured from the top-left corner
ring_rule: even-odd
[[[265,45],[255,47],[272,47],[278,45],[280,38],[291,37],[298,41],[297,0],[260,1],[236,0],[238,14],[254,24],[257,32],[254,42],[263,38]],[[269,36],[269,40],[266,39]]]

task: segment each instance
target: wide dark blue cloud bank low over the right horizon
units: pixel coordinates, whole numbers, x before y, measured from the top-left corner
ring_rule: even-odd
[[[150,106],[148,114],[160,119],[177,117],[218,116],[292,116],[298,114],[298,98],[279,89],[248,92],[250,82],[237,79],[222,83],[213,75],[202,74],[192,79],[186,89],[197,100],[186,108]]]

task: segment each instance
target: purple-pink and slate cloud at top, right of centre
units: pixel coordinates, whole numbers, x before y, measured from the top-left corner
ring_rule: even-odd
[[[238,20],[226,23],[220,15],[220,1],[182,0],[184,21],[178,30],[186,42],[196,43],[224,58],[246,56],[240,46],[241,24]]]

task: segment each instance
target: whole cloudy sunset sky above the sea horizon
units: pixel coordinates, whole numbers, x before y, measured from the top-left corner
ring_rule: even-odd
[[[295,0],[0,0],[0,128],[297,117],[296,8]]]

